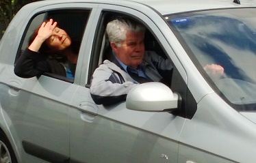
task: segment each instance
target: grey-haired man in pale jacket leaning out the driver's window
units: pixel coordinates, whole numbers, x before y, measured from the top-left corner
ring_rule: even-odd
[[[90,93],[96,104],[124,101],[127,93],[140,83],[154,81],[170,86],[172,65],[155,52],[145,51],[143,25],[116,19],[107,24],[106,31],[114,55],[92,75]]]

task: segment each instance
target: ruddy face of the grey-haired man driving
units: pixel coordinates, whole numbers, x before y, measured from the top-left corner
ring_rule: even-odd
[[[144,33],[127,31],[126,40],[120,42],[120,46],[111,43],[116,57],[126,65],[137,68],[144,57]]]

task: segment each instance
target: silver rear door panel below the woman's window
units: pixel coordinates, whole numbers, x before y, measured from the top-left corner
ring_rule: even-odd
[[[68,104],[77,86],[48,76],[40,76],[38,80],[15,76],[10,80],[19,81],[21,89],[6,87],[1,104],[3,109],[6,108],[8,118],[12,119],[13,133],[18,134],[25,152],[29,154],[23,155],[24,162],[67,160]]]

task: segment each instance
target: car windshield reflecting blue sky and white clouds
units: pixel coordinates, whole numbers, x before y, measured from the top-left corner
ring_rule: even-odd
[[[256,110],[256,9],[228,9],[166,16],[172,31],[214,90],[237,110]],[[213,80],[203,67],[225,72]]]

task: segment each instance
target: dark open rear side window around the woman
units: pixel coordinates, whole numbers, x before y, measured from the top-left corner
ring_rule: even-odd
[[[21,41],[20,48],[18,49],[16,60],[29,46],[29,42],[31,43],[31,35],[39,27],[39,25],[41,25],[42,22],[51,18],[57,22],[57,27],[60,27],[60,29],[64,29],[64,31],[66,31],[66,33],[69,35],[69,37],[71,38],[71,49],[73,53],[78,55],[89,14],[90,10],[54,10],[37,14],[36,16],[31,18],[29,25],[27,25],[27,29],[23,34],[23,40]],[[62,63],[66,59],[62,56],[62,54],[50,56],[50,58],[57,59],[57,61],[60,63]],[[63,66],[68,73],[66,66]],[[72,69],[75,71],[75,68],[75,63],[72,65],[68,65],[68,69]],[[73,83],[73,79],[70,79],[68,77],[63,77],[48,72],[44,73],[44,75]]]

